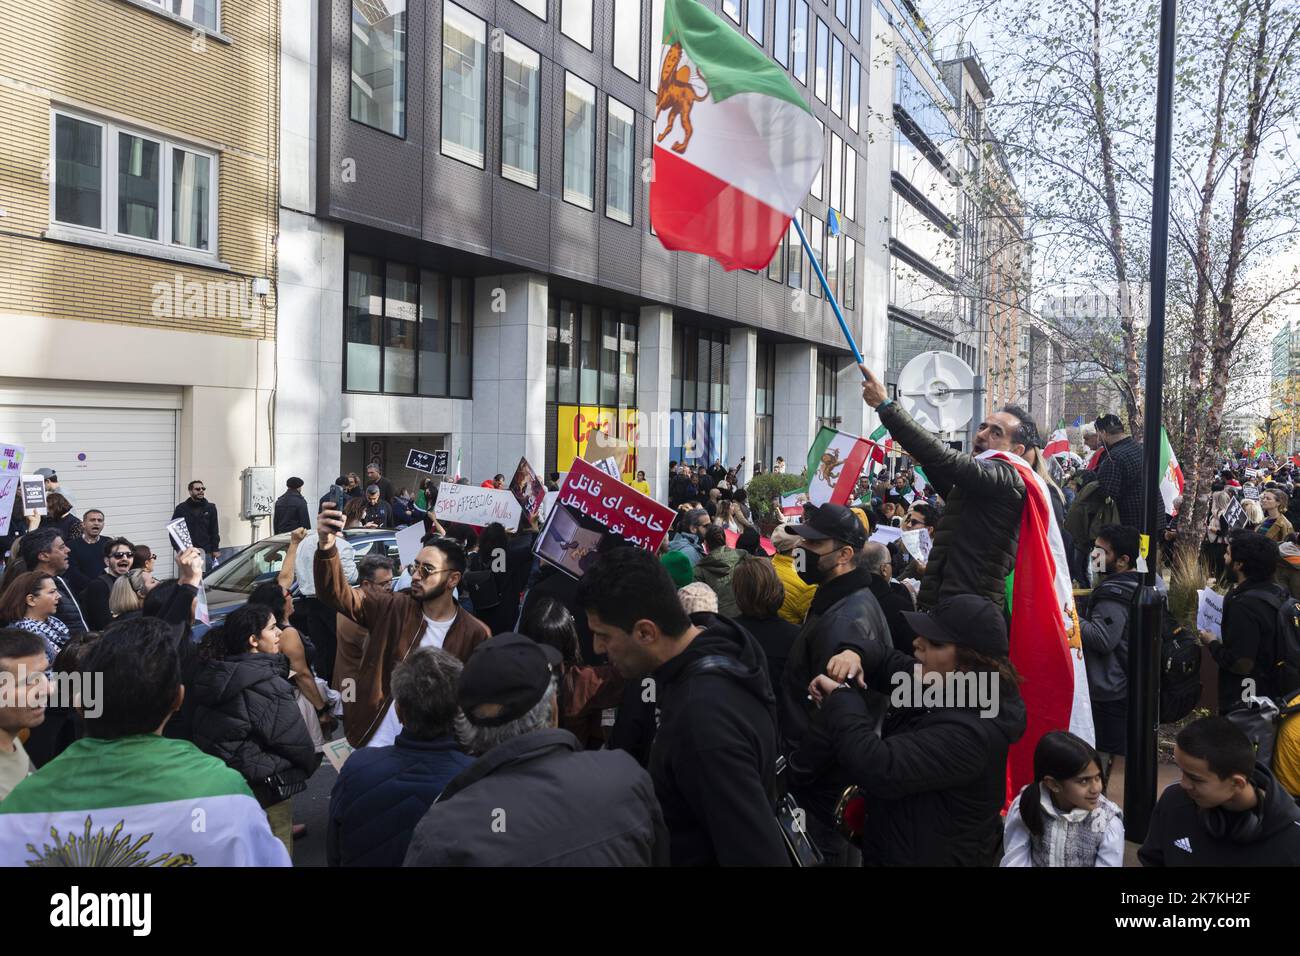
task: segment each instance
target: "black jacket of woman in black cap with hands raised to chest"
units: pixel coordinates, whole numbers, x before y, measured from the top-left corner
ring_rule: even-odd
[[[889,648],[863,658],[868,687],[888,693],[915,658]],[[867,797],[868,866],[996,866],[1001,856],[1006,754],[1024,734],[1024,702],[1001,684],[997,714],[976,708],[892,711],[876,736],[862,696],[822,705],[840,766]]]

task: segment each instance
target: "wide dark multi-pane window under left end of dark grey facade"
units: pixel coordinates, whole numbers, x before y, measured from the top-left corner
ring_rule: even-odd
[[[469,282],[348,254],[344,392],[469,398]]]

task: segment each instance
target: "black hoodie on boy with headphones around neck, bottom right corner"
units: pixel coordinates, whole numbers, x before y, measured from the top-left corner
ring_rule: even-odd
[[[1138,851],[1143,866],[1300,866],[1300,806],[1262,763],[1251,775],[1262,795],[1260,826],[1244,818],[1253,814],[1210,810],[1223,818],[1227,834],[1210,836],[1206,816],[1180,784],[1165,788],[1150,817],[1147,842]],[[1249,832],[1252,831],[1253,832]]]

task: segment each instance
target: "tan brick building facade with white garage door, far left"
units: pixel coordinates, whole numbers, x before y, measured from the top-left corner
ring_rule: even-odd
[[[0,436],[151,544],[270,464],[272,3],[0,0]]]

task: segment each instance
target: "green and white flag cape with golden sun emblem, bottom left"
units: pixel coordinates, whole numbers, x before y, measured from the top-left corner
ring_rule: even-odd
[[[82,737],[0,803],[0,866],[291,866],[238,771],[187,740]]]

